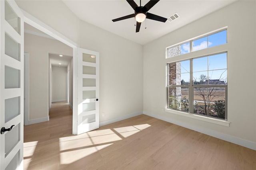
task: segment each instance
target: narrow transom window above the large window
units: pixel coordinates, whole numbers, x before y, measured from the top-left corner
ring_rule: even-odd
[[[178,45],[172,45],[167,48],[167,58],[175,57],[178,55],[190,53],[192,51],[198,51],[217,45],[227,43],[227,29],[222,29],[214,33],[209,33],[198,38],[190,39],[185,43],[179,43]]]

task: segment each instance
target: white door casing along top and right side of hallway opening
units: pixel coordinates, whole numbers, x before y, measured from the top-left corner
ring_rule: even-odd
[[[74,41],[68,39],[55,29],[49,27],[42,21],[38,20],[34,16],[28,14],[28,12],[20,9],[22,13],[24,14],[24,22],[28,23],[29,25],[35,27],[36,29],[50,35],[51,37],[57,39],[58,41],[70,46],[73,48],[73,121],[72,121],[72,133],[76,134],[75,129],[77,129],[77,121],[74,119],[74,113],[77,113],[77,48],[80,47],[80,45],[76,44]]]

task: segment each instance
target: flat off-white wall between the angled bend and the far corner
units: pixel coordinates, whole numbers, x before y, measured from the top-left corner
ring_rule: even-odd
[[[142,45],[84,21],[80,30],[80,46],[100,53],[100,121],[142,113]]]

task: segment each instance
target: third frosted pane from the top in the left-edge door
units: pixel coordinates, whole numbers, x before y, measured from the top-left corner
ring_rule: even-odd
[[[20,88],[20,70],[9,66],[5,66],[4,70],[4,87]]]

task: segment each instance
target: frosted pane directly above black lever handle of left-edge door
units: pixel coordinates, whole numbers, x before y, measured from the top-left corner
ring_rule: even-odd
[[[5,123],[20,114],[20,97],[4,100]]]

